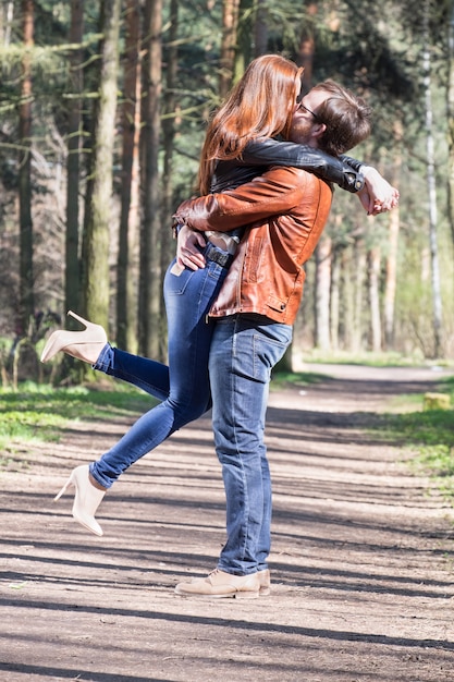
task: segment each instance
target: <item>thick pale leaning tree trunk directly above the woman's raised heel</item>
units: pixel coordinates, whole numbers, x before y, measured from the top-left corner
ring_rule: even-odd
[[[109,243],[112,200],[113,136],[115,129],[121,0],[103,0],[100,33],[99,97],[87,188],[84,234],[84,312],[108,329]]]

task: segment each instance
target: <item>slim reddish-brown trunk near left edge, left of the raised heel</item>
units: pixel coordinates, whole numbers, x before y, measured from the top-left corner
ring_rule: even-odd
[[[33,0],[22,0],[22,90],[19,107],[19,211],[20,301],[19,336],[25,336],[34,314],[33,221],[32,221],[32,50],[34,46]]]

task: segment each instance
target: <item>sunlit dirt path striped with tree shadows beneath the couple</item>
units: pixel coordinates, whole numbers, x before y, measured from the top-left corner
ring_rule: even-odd
[[[315,367],[322,370],[320,366]],[[181,598],[223,541],[209,419],[183,429],[107,496],[96,538],[52,496],[125,423],[75,423],[0,474],[0,680],[454,681],[454,514],[368,424],[438,373],[326,368],[272,392],[273,589]]]

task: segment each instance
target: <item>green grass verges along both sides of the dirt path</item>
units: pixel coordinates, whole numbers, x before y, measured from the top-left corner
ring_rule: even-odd
[[[305,387],[322,380],[327,380],[323,374],[279,373],[272,387]],[[438,390],[449,393],[454,405],[454,377],[441,380]],[[402,400],[406,411],[385,415],[379,436],[416,452],[414,465],[433,476],[454,501],[454,410],[422,412],[422,397]],[[16,392],[0,389],[0,468],[20,443],[58,441],[71,422],[135,416],[156,402],[133,387],[113,382],[102,388],[53,389],[23,383]],[[408,412],[408,402],[415,402],[418,410]]]

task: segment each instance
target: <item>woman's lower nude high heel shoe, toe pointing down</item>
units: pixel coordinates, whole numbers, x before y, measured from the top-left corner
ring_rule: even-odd
[[[95,535],[103,535],[102,528],[95,519],[96,510],[106,495],[106,490],[96,488],[89,479],[88,464],[76,466],[53,501],[57,502],[70,486],[75,486],[73,516]]]

